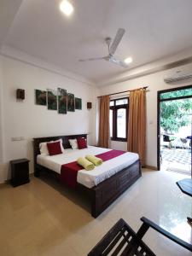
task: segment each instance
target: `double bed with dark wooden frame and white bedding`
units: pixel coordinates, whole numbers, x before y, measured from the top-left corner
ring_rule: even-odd
[[[34,138],[34,175],[39,177],[41,172],[46,171],[54,174],[57,178],[61,178],[61,164],[73,162],[73,160],[77,160],[79,156],[85,154],[107,154],[111,150],[92,146],[73,150],[68,140],[78,137],[87,138],[87,135]],[[60,138],[65,148],[64,154],[51,157],[40,154],[40,143],[55,141]],[[104,162],[102,166],[96,167],[93,171],[79,171],[77,176],[78,185],[75,189],[86,191],[86,195],[90,199],[91,215],[96,218],[141,176],[141,165],[137,154],[125,153]]]

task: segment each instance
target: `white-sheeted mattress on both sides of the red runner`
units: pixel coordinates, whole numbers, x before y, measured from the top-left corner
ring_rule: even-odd
[[[79,157],[84,157],[86,154],[102,154],[112,149],[98,148],[89,146],[84,149],[73,150],[71,148],[65,149],[64,154],[57,155],[42,155],[38,154],[38,165],[44,166],[52,171],[61,174],[61,166],[77,160]],[[124,168],[131,166],[138,160],[138,154],[126,152],[111,160],[105,161],[101,166],[96,166],[92,171],[81,170],[78,172],[77,182],[81,183],[87,188],[92,188],[98,183],[106,180],[108,177],[113,176],[115,173],[122,171]]]

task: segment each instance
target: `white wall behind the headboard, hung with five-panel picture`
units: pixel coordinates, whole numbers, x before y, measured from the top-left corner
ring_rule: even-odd
[[[33,171],[32,137],[59,136],[90,133],[89,143],[95,143],[95,88],[51,73],[22,61],[2,57],[3,72],[3,180],[9,178],[9,160],[28,158],[30,172]],[[1,78],[1,77],[0,77]],[[1,81],[1,79],[0,79]],[[58,114],[44,106],[35,105],[34,90],[61,87],[82,98],[82,110],[74,113]],[[18,102],[16,89],[26,90],[26,99]],[[0,95],[1,96],[1,95]],[[87,110],[86,103],[93,102]],[[11,137],[25,137],[24,141],[12,142]],[[0,137],[1,138],[1,137]]]

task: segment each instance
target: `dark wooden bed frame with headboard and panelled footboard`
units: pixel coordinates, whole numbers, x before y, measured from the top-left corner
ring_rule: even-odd
[[[70,136],[57,136],[57,137],[38,137],[33,139],[33,149],[34,149],[34,175],[35,177],[40,176],[41,171],[48,171],[59,176],[56,172],[40,166],[37,163],[37,156],[40,154],[39,143],[55,141],[57,139],[62,139],[64,148],[71,148],[68,140],[74,139],[77,137],[87,138],[87,134],[78,134]],[[85,189],[90,196],[91,203],[91,215],[96,218],[99,216],[105,209],[110,206],[113,201],[115,201],[119,195],[121,195],[126,189],[131,187],[133,183],[137,181],[139,177],[142,176],[140,160],[137,160],[131,166],[123,169],[122,171],[114,174],[112,177],[109,177],[102,183],[99,183],[95,187],[89,189],[84,185],[79,184],[79,189]]]

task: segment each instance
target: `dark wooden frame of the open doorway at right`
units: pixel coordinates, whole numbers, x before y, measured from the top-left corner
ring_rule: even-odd
[[[187,85],[187,86],[179,86],[179,87],[174,87],[172,89],[157,91],[157,170],[159,170],[159,171],[160,171],[160,102],[167,102],[167,101],[191,98],[191,96],[179,96],[179,97],[160,100],[160,94],[165,93],[165,92],[175,91],[175,90],[189,89],[189,88],[192,88],[192,84]]]

